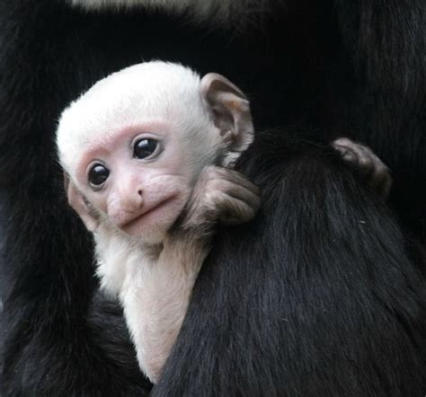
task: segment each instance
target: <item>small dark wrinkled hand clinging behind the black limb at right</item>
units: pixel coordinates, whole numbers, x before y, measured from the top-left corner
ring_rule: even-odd
[[[392,177],[385,163],[368,146],[346,137],[336,139],[332,146],[342,155],[342,159],[346,163],[351,164],[367,179],[368,184],[377,191],[382,199],[387,199],[392,186]]]

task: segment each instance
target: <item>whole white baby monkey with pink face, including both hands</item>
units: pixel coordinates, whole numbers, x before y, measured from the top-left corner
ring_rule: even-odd
[[[257,188],[228,168],[252,138],[249,102],[234,84],[164,62],[104,78],[60,118],[69,203],[93,232],[102,287],[119,296],[139,366],[154,383],[213,226],[247,222],[260,206]],[[334,146],[371,180],[387,181],[363,146]]]

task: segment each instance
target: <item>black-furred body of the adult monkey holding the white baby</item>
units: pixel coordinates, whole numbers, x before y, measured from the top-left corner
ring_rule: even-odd
[[[264,210],[217,237],[157,393],[424,394],[424,278],[400,225],[333,153],[286,143],[281,128],[304,121],[320,143],[371,146],[393,171],[402,227],[424,243],[425,7],[288,1],[240,34],[142,10],[2,1],[0,393],[150,388],[120,313],[93,298],[92,244],[67,207],[53,136],[95,81],[160,58],[226,75],[249,94],[256,128],[280,129],[260,134],[242,164]]]

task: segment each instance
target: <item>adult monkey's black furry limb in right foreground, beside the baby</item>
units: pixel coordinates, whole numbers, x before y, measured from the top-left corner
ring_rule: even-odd
[[[217,234],[153,395],[423,395],[425,278],[386,207],[283,132],[244,170],[261,213]]]

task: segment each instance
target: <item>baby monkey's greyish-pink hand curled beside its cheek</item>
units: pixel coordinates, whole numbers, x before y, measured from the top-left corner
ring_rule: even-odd
[[[260,205],[259,189],[243,174],[210,165],[192,191],[183,227],[242,224],[253,218]]]

